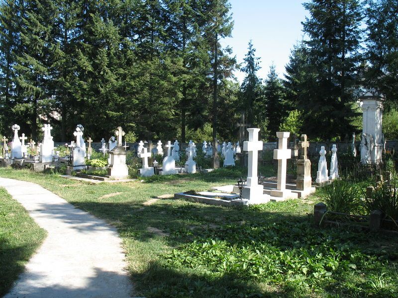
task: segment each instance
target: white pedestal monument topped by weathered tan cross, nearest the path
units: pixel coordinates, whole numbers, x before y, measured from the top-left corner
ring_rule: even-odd
[[[125,135],[119,126],[114,132],[117,137],[117,146],[109,150],[110,164],[108,176],[113,179],[125,179],[128,177],[128,167],[126,165],[127,151],[123,148],[122,137]]]

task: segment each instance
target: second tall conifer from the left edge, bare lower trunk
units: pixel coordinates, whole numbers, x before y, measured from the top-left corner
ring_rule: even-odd
[[[37,140],[39,114],[49,113],[49,67],[54,49],[56,7],[52,0],[24,1],[21,9],[20,44],[15,54],[15,83],[20,103],[14,110],[28,113],[32,138]]]

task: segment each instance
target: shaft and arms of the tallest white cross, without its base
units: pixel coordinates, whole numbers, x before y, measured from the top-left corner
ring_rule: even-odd
[[[249,141],[243,142],[243,150],[249,151],[247,164],[247,186],[258,185],[257,166],[258,151],[263,149],[263,142],[258,140],[259,128],[248,128]]]

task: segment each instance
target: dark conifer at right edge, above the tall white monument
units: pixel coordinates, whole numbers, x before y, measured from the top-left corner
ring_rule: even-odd
[[[369,0],[367,86],[386,94],[389,103],[398,107],[398,1]]]

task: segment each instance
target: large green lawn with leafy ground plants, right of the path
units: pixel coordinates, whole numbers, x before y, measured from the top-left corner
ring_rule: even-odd
[[[136,296],[398,297],[397,237],[314,228],[316,197],[225,208],[164,196],[235,183],[242,173],[90,185],[0,168],[0,176],[38,183],[116,226]]]

